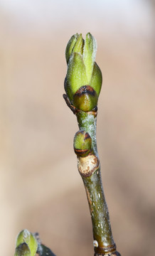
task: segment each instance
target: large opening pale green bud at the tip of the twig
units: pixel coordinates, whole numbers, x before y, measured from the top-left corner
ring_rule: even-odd
[[[65,92],[72,103],[75,92],[85,85],[90,85],[97,93],[97,97],[100,95],[102,73],[95,63],[96,50],[95,38],[90,33],[87,33],[85,41],[82,38],[82,34],[75,34],[68,42],[65,50],[68,63]],[[87,97],[85,96],[84,98],[86,99]],[[87,100],[87,102],[93,102],[93,100]],[[93,105],[95,104],[93,103]],[[90,107],[87,108],[90,109]]]

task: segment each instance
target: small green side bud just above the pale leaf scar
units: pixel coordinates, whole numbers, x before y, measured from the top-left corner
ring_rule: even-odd
[[[88,132],[80,130],[74,137],[74,151],[77,156],[87,156],[92,151],[92,139]]]

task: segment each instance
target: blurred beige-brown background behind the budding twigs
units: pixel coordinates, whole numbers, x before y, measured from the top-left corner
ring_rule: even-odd
[[[93,255],[77,173],[77,122],[63,100],[65,46],[97,39],[103,75],[97,145],[112,232],[122,255],[154,254],[154,1],[0,1],[0,243],[23,228],[57,255]]]

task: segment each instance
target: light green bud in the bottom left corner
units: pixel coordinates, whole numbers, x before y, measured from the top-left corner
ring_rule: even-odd
[[[16,239],[16,247],[19,245],[26,243],[28,245],[28,248],[31,251],[31,256],[36,255],[36,251],[38,248],[38,243],[36,241],[36,238],[34,238],[33,234],[31,234],[28,230],[22,230]]]

